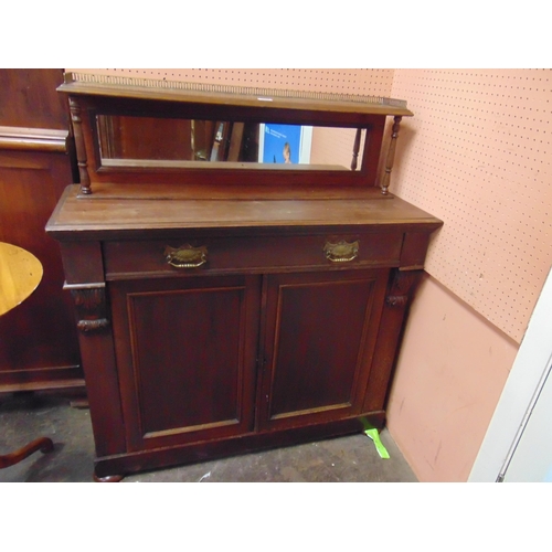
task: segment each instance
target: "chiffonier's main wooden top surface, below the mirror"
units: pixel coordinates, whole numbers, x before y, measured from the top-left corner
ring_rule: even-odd
[[[156,189],[156,197],[151,190]],[[379,189],[261,187],[197,189],[104,184],[92,195],[67,187],[46,231],[54,237],[86,240],[141,232],[210,229],[301,229],[314,226],[413,225],[435,230],[442,221]]]

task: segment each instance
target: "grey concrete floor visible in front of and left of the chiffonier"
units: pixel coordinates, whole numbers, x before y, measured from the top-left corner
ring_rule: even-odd
[[[0,454],[38,437],[50,437],[54,450],[34,453],[0,469],[0,482],[93,481],[94,439],[89,411],[71,406],[71,397],[49,394],[0,394]],[[391,458],[382,459],[363,434],[137,474],[124,482],[411,482],[416,478],[384,429],[381,439]]]

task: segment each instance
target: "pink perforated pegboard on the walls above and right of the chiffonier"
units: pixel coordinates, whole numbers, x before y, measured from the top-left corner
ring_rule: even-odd
[[[67,70],[406,99],[391,191],[444,220],[426,269],[516,341],[552,262],[551,70]]]

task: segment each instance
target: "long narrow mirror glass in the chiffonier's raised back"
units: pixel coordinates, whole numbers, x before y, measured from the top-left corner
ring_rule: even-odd
[[[106,167],[354,170],[365,130],[300,125],[97,115]],[[355,157],[355,152],[358,157]],[[354,162],[351,166],[351,160]]]

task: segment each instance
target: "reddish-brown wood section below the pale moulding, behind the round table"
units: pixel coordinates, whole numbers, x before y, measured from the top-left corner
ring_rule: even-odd
[[[57,243],[44,226],[71,169],[63,153],[0,151],[0,241],[30,251],[44,275],[34,294],[0,318],[0,386],[83,375],[72,301]]]

